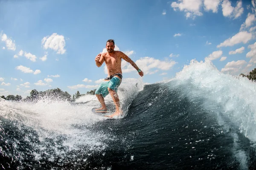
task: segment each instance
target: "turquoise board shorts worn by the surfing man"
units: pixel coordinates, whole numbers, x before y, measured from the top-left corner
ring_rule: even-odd
[[[101,94],[103,97],[109,94],[108,88],[117,92],[117,88],[121,84],[121,80],[118,77],[113,77],[109,81],[103,81],[95,91],[95,94]]]

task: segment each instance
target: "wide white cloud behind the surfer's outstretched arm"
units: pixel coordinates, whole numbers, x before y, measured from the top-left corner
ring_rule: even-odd
[[[138,67],[145,73],[149,74],[152,72],[152,69],[158,68],[160,70],[169,70],[172,68],[173,65],[175,65],[177,62],[175,61],[160,61],[159,59],[154,59],[152,57],[143,57],[138,59],[135,62]],[[122,61],[122,72],[123,73],[128,73],[131,71],[136,71],[130,63],[125,62],[124,60]]]

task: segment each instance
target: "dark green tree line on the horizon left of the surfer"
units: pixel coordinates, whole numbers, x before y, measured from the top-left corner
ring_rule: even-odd
[[[13,100],[13,101],[23,101],[23,102],[36,102],[41,99],[54,99],[54,100],[63,100],[63,101],[69,101],[69,102],[74,102],[76,99],[78,99],[81,96],[84,95],[95,95],[95,91],[87,91],[86,94],[80,94],[79,91],[76,92],[76,94],[73,95],[71,98],[71,95],[67,91],[62,91],[59,88],[55,89],[49,89],[47,91],[37,91],[36,89],[32,90],[30,92],[30,96],[26,96],[26,98],[22,98],[20,95],[8,95],[8,96],[1,96],[1,98],[6,99],[6,100]]]

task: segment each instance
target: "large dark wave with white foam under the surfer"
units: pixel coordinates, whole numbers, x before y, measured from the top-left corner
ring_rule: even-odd
[[[0,102],[0,161],[11,169],[255,169],[256,83],[192,60],[174,79],[123,79],[124,115],[76,102]],[[107,107],[114,109],[111,96]]]

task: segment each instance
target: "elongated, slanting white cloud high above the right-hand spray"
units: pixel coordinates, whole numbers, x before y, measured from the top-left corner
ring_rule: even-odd
[[[217,45],[217,48],[233,46],[243,42],[244,44],[251,40],[253,37],[252,33],[248,33],[247,31],[241,31],[234,35],[233,37],[221,42],[221,44]]]

